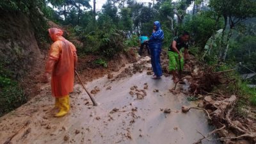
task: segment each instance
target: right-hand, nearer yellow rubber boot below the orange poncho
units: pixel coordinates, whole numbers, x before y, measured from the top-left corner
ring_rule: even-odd
[[[70,106],[69,106],[69,95],[66,95],[65,97],[61,97],[59,98],[59,102],[60,102],[60,111],[59,113],[56,113],[56,117],[61,117],[61,116],[65,116],[67,115]]]

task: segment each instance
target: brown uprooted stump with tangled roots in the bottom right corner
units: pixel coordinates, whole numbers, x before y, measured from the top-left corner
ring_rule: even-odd
[[[256,143],[256,127],[253,125],[241,123],[238,120],[233,120],[232,112],[236,104],[237,97],[232,95],[224,100],[205,100],[205,109],[212,111],[210,113],[212,124],[216,126],[212,132],[205,136],[200,133],[203,138],[198,140],[195,144],[201,143],[202,140],[208,141],[221,140],[225,144],[235,143],[234,140],[248,140],[249,143]],[[228,132],[233,132],[236,136],[229,136]],[[218,133],[220,138],[216,140],[209,140],[209,136],[213,133]]]

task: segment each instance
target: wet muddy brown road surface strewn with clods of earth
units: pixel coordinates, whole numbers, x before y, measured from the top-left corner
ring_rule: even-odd
[[[113,76],[87,83],[99,106],[92,106],[82,86],[76,84],[70,94],[70,113],[61,118],[53,117],[54,99],[45,84],[40,95],[0,118],[0,141],[4,143],[17,132],[11,143],[191,144],[202,138],[196,131],[212,131],[204,112],[181,112],[182,105],[196,106],[196,102],[189,102],[182,93],[170,93],[171,77],[151,79],[149,69],[145,58]],[[165,108],[170,113],[164,113]]]

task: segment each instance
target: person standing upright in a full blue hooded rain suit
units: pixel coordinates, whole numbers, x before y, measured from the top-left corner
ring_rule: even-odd
[[[162,45],[164,40],[164,32],[161,29],[159,21],[154,22],[154,30],[148,40],[148,47],[150,49],[151,64],[154,71],[153,79],[161,78],[162,67],[160,63],[160,54],[162,51]]]

